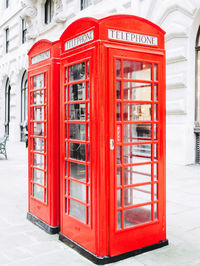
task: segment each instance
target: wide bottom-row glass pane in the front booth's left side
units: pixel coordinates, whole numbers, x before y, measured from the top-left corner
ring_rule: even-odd
[[[86,223],[86,206],[74,200],[69,201],[70,215]]]

